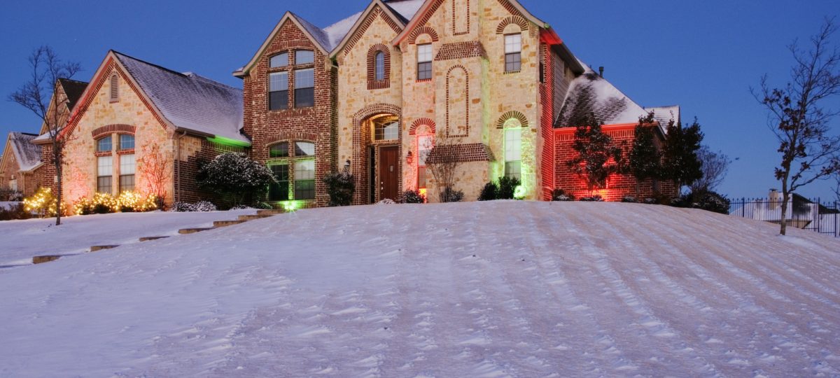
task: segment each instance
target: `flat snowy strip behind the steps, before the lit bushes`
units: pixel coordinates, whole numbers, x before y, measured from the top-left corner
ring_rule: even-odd
[[[32,264],[32,256],[75,255],[91,245],[138,243],[145,236],[171,236],[181,228],[211,227],[256,210],[207,213],[114,213],[0,222],[0,266]]]

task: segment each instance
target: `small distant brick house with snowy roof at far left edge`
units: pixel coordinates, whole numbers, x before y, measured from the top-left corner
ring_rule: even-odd
[[[41,166],[41,148],[32,140],[38,135],[12,132],[8,134],[0,157],[0,188],[8,188],[32,195],[41,186],[38,174]]]

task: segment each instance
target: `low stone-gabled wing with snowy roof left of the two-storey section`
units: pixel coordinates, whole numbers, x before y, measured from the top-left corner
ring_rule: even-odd
[[[123,191],[197,201],[206,197],[195,185],[199,161],[244,151],[240,129],[239,89],[109,51],[60,133],[66,202]],[[50,156],[48,135],[36,142]],[[149,160],[164,162],[162,174],[148,171]]]

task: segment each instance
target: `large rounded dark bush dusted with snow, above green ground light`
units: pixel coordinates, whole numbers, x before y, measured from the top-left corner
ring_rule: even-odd
[[[199,188],[218,194],[230,206],[261,197],[275,182],[267,166],[236,152],[216,156],[202,165],[196,175]]]

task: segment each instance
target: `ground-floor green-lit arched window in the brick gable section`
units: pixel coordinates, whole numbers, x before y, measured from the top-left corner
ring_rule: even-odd
[[[315,144],[286,141],[272,145],[269,151],[274,158],[269,169],[277,180],[269,186],[269,201],[315,199]]]

